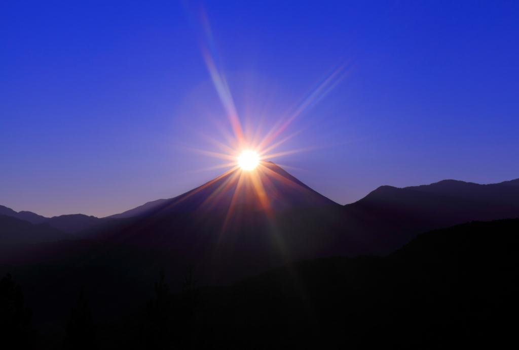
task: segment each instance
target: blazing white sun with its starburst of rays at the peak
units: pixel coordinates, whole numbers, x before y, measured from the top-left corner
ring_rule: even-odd
[[[227,180],[221,183],[220,187],[214,191],[210,198],[207,198],[204,201],[203,205],[208,207],[217,205],[216,203],[218,202],[218,199],[220,196],[225,194],[226,188],[229,186],[236,186],[227,211],[224,223],[225,227],[235,210],[236,196],[240,194],[240,191],[244,191],[243,188],[250,188],[252,185],[255,192],[254,198],[257,199],[260,207],[269,214],[271,208],[269,206],[269,198],[267,197],[265,188],[273,187],[272,184],[269,183],[272,179],[287,182],[287,185],[289,186],[299,186],[299,184],[289,183],[291,181],[288,178],[280,176],[276,171],[272,171],[270,167],[266,166],[265,162],[275,160],[277,157],[311,149],[311,147],[306,147],[304,149],[278,150],[281,145],[284,145],[287,141],[298,135],[297,131],[287,134],[289,127],[294,120],[303,114],[303,112],[314,106],[340,81],[342,81],[347,72],[347,63],[339,65],[327,74],[324,79],[315,86],[315,88],[311,89],[310,92],[289,111],[289,113],[281,115],[275,125],[266,133],[261,135],[262,133],[260,133],[260,130],[258,129],[252,133],[254,135],[253,137],[247,137],[249,135],[244,133],[238,109],[235,106],[233,94],[231,94],[224,70],[217,64],[218,60],[216,57],[218,57],[218,55],[215,51],[216,45],[212,39],[213,36],[211,34],[211,27],[207,16],[202,15],[201,21],[204,30],[204,38],[202,40],[201,48],[203,59],[206,63],[216,93],[224,107],[226,114],[225,119],[229,123],[231,134],[228,134],[228,128],[222,129],[225,133],[223,137],[227,139],[227,143],[217,141],[214,137],[207,137],[208,141],[215,145],[220,152],[214,150],[195,151],[207,156],[220,158],[224,161],[222,164],[212,167],[211,169],[228,168],[228,170],[222,175],[222,177],[226,177]],[[204,186],[201,188],[203,187]],[[195,192],[193,192],[193,194],[194,193]],[[212,202],[212,204],[208,202]]]

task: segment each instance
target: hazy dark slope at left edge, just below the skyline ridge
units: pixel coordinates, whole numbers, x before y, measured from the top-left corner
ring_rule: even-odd
[[[16,217],[0,214],[0,251],[13,244],[51,242],[70,238],[70,235],[49,224],[31,224]]]

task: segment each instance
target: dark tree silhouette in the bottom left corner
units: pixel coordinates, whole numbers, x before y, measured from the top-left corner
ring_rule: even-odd
[[[33,348],[36,333],[31,327],[32,312],[24,306],[23,293],[12,276],[0,280],[0,339],[17,348]]]

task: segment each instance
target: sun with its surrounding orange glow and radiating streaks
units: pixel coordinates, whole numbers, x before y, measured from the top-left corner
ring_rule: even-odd
[[[245,108],[248,113],[254,113],[250,115],[253,118],[249,119],[249,122],[253,121],[253,124],[242,125],[242,121],[247,121],[247,119],[240,115],[240,110],[235,105],[235,99],[231,94],[226,75],[218,59],[220,55],[215,50],[218,46],[213,41],[214,36],[211,33],[211,26],[204,13],[202,13],[200,19],[204,33],[203,40],[201,40],[202,56],[224,113],[221,114],[221,119],[218,118],[216,124],[216,130],[220,132],[220,137],[204,135],[205,141],[210,142],[214,148],[211,150],[191,150],[222,159],[221,164],[204,170],[225,168],[227,171],[216,179],[191,191],[188,196],[183,198],[196,195],[215,182],[219,183],[215,191],[201,203],[201,206],[216,206],[229,193],[231,194],[230,202],[228,204],[225,202],[226,205],[223,208],[227,212],[222,224],[222,233],[234,217],[233,215],[238,212],[237,208],[240,208],[243,204],[240,202],[243,197],[253,199],[254,203],[249,202],[248,205],[256,205],[257,208],[263,210],[269,220],[275,220],[271,200],[276,197],[278,189],[274,183],[300,186],[275,170],[275,166],[288,167],[280,164],[279,158],[317,148],[305,142],[305,148],[288,149],[288,141],[301,132],[301,130],[292,130],[291,132],[289,130],[295,126],[293,125],[294,120],[316,105],[343,80],[348,71],[346,69],[348,63],[344,62],[337,66],[324,76],[315,87],[310,89],[301,100],[291,104],[291,107],[287,106],[285,111],[277,115],[274,124],[263,124],[265,114],[262,111],[257,111],[256,115],[255,110]],[[263,126],[265,126],[265,129]],[[276,164],[271,163],[272,161],[275,161]]]

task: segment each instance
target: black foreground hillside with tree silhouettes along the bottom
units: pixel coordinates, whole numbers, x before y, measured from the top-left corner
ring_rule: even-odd
[[[519,219],[472,222],[386,257],[301,261],[229,286],[198,286],[189,273],[165,280],[157,268],[142,301],[116,318],[80,286],[73,298],[58,288],[44,317],[31,314],[41,308],[23,300],[30,290],[15,272],[0,285],[1,339],[74,349],[508,347],[517,342],[518,234]],[[66,315],[42,321],[60,300]]]

